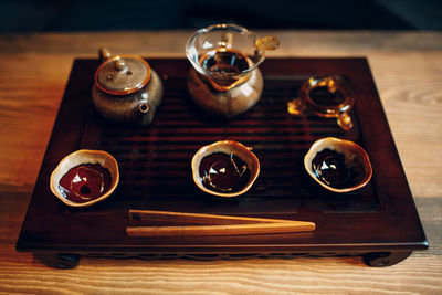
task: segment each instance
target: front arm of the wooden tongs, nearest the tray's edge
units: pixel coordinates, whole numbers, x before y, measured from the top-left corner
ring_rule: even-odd
[[[189,225],[189,226],[129,226],[128,236],[194,236],[271,234],[314,231],[315,223],[294,221],[235,225]]]

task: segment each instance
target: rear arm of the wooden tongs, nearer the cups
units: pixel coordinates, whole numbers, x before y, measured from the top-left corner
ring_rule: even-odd
[[[155,211],[155,210],[129,210],[129,219],[143,221],[167,221],[180,223],[194,223],[194,224],[250,224],[250,223],[281,223],[293,222],[293,220],[284,219],[266,219],[266,218],[245,218],[245,217],[231,217],[231,215],[215,215],[204,213],[182,213],[169,211]],[[313,223],[314,224],[314,223]]]

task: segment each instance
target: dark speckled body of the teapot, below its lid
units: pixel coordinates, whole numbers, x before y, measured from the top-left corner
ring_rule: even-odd
[[[150,124],[162,101],[162,82],[154,70],[150,71],[150,80],[146,86],[133,94],[110,95],[94,85],[92,97],[96,109],[115,122]]]

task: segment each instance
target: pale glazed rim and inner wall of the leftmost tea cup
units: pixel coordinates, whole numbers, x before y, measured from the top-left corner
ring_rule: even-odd
[[[83,164],[93,164],[93,165],[99,164],[101,166],[109,170],[112,176],[112,182],[109,190],[105,194],[101,196],[99,198],[93,199],[88,202],[77,203],[66,199],[66,197],[63,193],[61,193],[59,185],[62,177],[65,173],[67,173],[69,170]],[[71,207],[87,207],[109,197],[117,187],[118,181],[119,181],[118,164],[117,160],[110,154],[103,150],[81,149],[70,154],[60,161],[59,166],[54,169],[54,171],[51,175],[50,188],[52,193],[54,193],[65,204]]]

